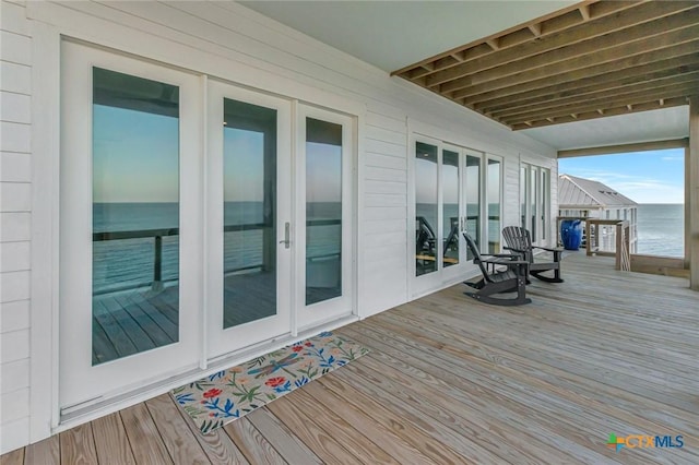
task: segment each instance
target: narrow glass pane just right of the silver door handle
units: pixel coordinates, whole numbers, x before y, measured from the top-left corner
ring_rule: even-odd
[[[342,126],[306,118],[306,305],[342,295]]]

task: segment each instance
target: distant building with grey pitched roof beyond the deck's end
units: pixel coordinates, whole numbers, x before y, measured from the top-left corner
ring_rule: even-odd
[[[558,216],[580,219],[626,219],[630,224],[631,252],[636,251],[638,203],[602,182],[559,175]]]

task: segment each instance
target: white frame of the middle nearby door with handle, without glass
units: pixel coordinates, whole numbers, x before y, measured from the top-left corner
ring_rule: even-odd
[[[276,314],[223,329],[223,245],[224,245],[224,98],[276,110]],[[292,102],[261,92],[248,91],[221,81],[209,80],[206,155],[206,354],[209,359],[224,357],[265,341],[292,333],[293,236],[292,188]]]

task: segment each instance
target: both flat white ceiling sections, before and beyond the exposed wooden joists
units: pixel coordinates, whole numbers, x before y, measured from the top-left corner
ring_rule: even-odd
[[[516,26],[576,1],[241,1],[386,71]],[[399,79],[399,78],[394,78]],[[557,150],[688,136],[687,107],[521,131]]]

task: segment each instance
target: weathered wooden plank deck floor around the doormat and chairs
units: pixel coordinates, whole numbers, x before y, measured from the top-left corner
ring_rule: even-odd
[[[212,434],[162,395],[0,462],[699,463],[699,294],[583,252],[562,267],[528,306],[454,286],[346,326],[369,355]],[[684,448],[617,453],[613,432]]]

